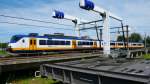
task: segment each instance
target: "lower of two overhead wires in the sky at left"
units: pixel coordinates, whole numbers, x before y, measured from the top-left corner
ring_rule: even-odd
[[[16,22],[0,22],[0,23],[16,24],[16,25],[22,25],[22,26],[43,27],[43,28],[55,28],[55,29],[63,29],[63,30],[73,30],[73,29],[69,29],[69,28],[56,28],[56,27],[51,27],[51,26],[41,26],[41,25],[32,25],[32,24],[22,24],[22,23],[16,23]]]

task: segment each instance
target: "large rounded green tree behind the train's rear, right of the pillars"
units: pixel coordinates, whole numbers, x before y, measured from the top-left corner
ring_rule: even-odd
[[[129,37],[130,42],[141,42],[142,37],[139,33],[132,33]]]

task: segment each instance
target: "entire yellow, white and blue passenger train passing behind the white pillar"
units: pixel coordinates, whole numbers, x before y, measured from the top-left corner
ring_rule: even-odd
[[[111,41],[111,48],[124,48],[124,42]],[[144,44],[129,42],[129,48],[143,48]],[[85,39],[64,35],[14,35],[12,36],[8,50],[12,53],[51,52],[68,50],[96,50],[103,49],[103,41]]]

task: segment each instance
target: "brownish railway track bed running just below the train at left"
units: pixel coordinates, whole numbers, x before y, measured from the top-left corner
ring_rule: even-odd
[[[41,56],[15,56],[15,57],[0,58],[0,63],[47,60],[47,59],[68,58],[68,57],[89,56],[89,55],[94,55],[94,54],[93,53],[66,53],[66,54],[52,54],[52,55],[41,55]]]

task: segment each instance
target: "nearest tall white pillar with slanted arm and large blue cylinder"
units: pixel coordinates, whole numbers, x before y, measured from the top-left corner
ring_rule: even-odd
[[[109,17],[116,19],[118,21],[122,22],[122,19],[109,11],[96,6],[92,1],[90,0],[80,0],[79,3],[80,8],[85,10],[91,10],[96,13],[99,13],[103,18],[103,41],[104,41],[104,48],[103,52],[106,56],[110,54],[110,30],[109,30]]]

